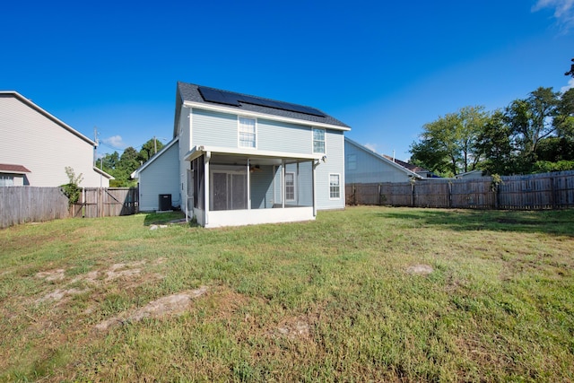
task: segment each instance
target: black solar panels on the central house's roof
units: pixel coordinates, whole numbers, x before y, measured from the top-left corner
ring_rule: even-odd
[[[265,100],[258,97],[234,93],[232,91],[219,91],[212,88],[206,88],[204,86],[198,87],[197,90],[201,94],[201,97],[208,102],[216,102],[218,104],[231,105],[234,107],[239,107],[241,106],[239,102],[244,102],[247,104],[258,105],[260,107],[288,110],[317,117],[326,117],[325,114],[317,109],[291,104],[289,102]]]

